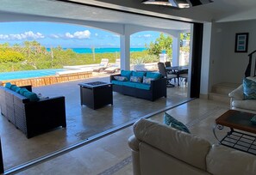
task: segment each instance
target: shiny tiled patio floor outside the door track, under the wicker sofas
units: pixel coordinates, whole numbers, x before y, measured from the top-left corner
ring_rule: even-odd
[[[109,76],[97,77],[86,81],[109,81]],[[175,106],[184,100],[188,100],[186,97],[187,88],[181,86],[167,88],[167,98],[160,98],[154,102],[114,93],[113,106],[104,106],[98,110],[92,110],[87,106],[80,106],[79,82],[84,81],[70,81],[45,87],[34,87],[33,89],[35,93],[41,93],[43,96],[65,95],[66,129],[53,130],[27,139],[6,118],[0,117],[0,136],[5,169],[81,142],[105,130],[113,129],[120,124],[143,117],[148,113],[156,112],[168,106]],[[114,138],[116,135],[118,134],[114,134],[111,137]],[[124,140],[127,140],[127,137]],[[91,144],[94,145],[95,143]],[[116,145],[118,144],[122,143],[116,143]],[[121,146],[123,147],[123,145]],[[106,145],[106,147],[108,146]],[[86,148],[91,147],[86,146]],[[110,148],[113,148],[113,146]],[[101,149],[98,151],[101,151]],[[120,159],[116,161],[122,160],[122,156],[119,154],[117,157],[120,157]],[[125,155],[123,158],[126,157]],[[105,166],[103,169],[105,169]]]

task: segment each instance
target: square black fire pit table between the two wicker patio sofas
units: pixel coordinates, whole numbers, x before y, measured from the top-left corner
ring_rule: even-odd
[[[109,104],[113,105],[112,84],[102,81],[80,83],[81,106],[97,109]]]

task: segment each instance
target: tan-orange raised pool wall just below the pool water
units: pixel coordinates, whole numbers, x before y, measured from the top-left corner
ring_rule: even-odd
[[[50,75],[50,76],[43,76],[43,77],[2,81],[3,83],[2,86],[4,86],[6,82],[10,82],[11,84],[16,84],[17,86],[32,85],[33,87],[41,87],[41,86],[51,85],[58,82],[82,80],[82,79],[90,78],[91,76],[92,76],[92,72],[73,73],[68,75]]]

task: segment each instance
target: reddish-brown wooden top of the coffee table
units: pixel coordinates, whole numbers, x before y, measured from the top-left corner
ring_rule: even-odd
[[[250,120],[255,116],[253,113],[228,110],[221,117],[215,119],[216,124],[227,126],[232,129],[243,130],[256,134],[256,124]]]

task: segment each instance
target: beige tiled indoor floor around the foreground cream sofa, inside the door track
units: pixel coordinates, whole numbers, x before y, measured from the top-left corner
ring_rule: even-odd
[[[228,104],[215,101],[192,100],[167,112],[186,124],[193,135],[215,143],[212,133],[214,120],[228,108]],[[163,122],[163,113],[150,119]],[[18,174],[133,174],[128,148],[128,137],[132,133],[130,126]],[[223,133],[219,131],[217,135]]]

